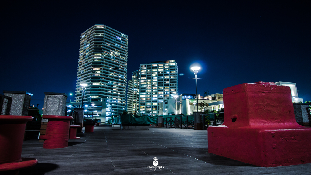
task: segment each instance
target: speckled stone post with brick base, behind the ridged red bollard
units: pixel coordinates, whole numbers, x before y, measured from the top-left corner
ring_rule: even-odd
[[[66,93],[57,92],[44,92],[44,104],[43,112],[44,116],[65,116],[66,99],[68,95]],[[40,135],[45,135],[46,127],[48,125],[48,119],[42,119]],[[39,140],[43,142],[44,140]]]

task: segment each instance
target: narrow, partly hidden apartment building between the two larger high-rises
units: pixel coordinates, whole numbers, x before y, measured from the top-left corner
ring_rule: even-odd
[[[139,73],[140,70],[133,72],[131,80],[128,81],[128,93],[127,93],[127,112],[139,113]]]

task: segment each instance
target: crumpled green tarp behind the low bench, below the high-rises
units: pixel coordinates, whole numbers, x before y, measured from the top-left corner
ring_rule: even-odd
[[[109,120],[109,124],[156,124],[158,116],[134,116],[132,114],[122,114]]]

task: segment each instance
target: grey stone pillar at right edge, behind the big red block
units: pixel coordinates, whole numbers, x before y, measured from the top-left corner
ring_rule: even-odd
[[[309,126],[307,107],[309,107],[309,103],[294,103],[295,119],[299,125]]]

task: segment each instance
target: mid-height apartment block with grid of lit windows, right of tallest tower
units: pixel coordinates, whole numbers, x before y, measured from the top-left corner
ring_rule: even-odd
[[[140,103],[142,114],[158,115],[159,103],[178,94],[178,67],[175,60],[140,65]]]

